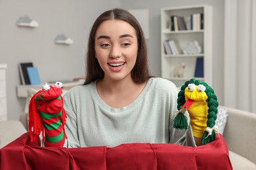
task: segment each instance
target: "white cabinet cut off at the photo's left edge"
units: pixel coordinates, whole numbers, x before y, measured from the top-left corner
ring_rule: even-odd
[[[7,120],[6,69],[7,64],[0,63],[0,121]]]

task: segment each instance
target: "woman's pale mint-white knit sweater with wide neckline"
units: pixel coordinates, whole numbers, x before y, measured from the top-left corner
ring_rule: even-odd
[[[196,146],[191,127],[188,130],[172,127],[178,92],[169,80],[150,78],[135,101],[114,109],[102,101],[96,82],[76,86],[64,95],[68,147],[113,147],[123,143]]]

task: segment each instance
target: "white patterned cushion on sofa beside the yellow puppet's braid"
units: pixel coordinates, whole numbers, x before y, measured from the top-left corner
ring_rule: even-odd
[[[217,119],[215,120],[216,126],[219,127],[219,133],[223,134],[228,119],[228,110],[223,107],[218,107]]]

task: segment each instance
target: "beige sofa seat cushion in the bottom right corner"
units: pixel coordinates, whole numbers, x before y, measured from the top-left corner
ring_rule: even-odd
[[[253,162],[247,160],[243,156],[240,156],[239,154],[236,154],[230,150],[229,158],[233,169],[256,169],[256,165]]]

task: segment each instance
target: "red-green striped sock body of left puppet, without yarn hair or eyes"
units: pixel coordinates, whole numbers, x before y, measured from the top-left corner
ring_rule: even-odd
[[[41,120],[45,146],[63,146],[65,142],[66,112],[61,94],[61,88],[51,86],[49,90],[41,90],[33,97]]]

